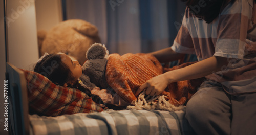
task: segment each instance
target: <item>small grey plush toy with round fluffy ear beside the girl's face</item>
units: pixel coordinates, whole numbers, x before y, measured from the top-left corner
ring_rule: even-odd
[[[88,59],[82,66],[80,84],[92,90],[95,87],[107,89],[110,86],[105,79],[106,64],[108,63],[109,51],[100,43],[93,44],[86,53]]]

